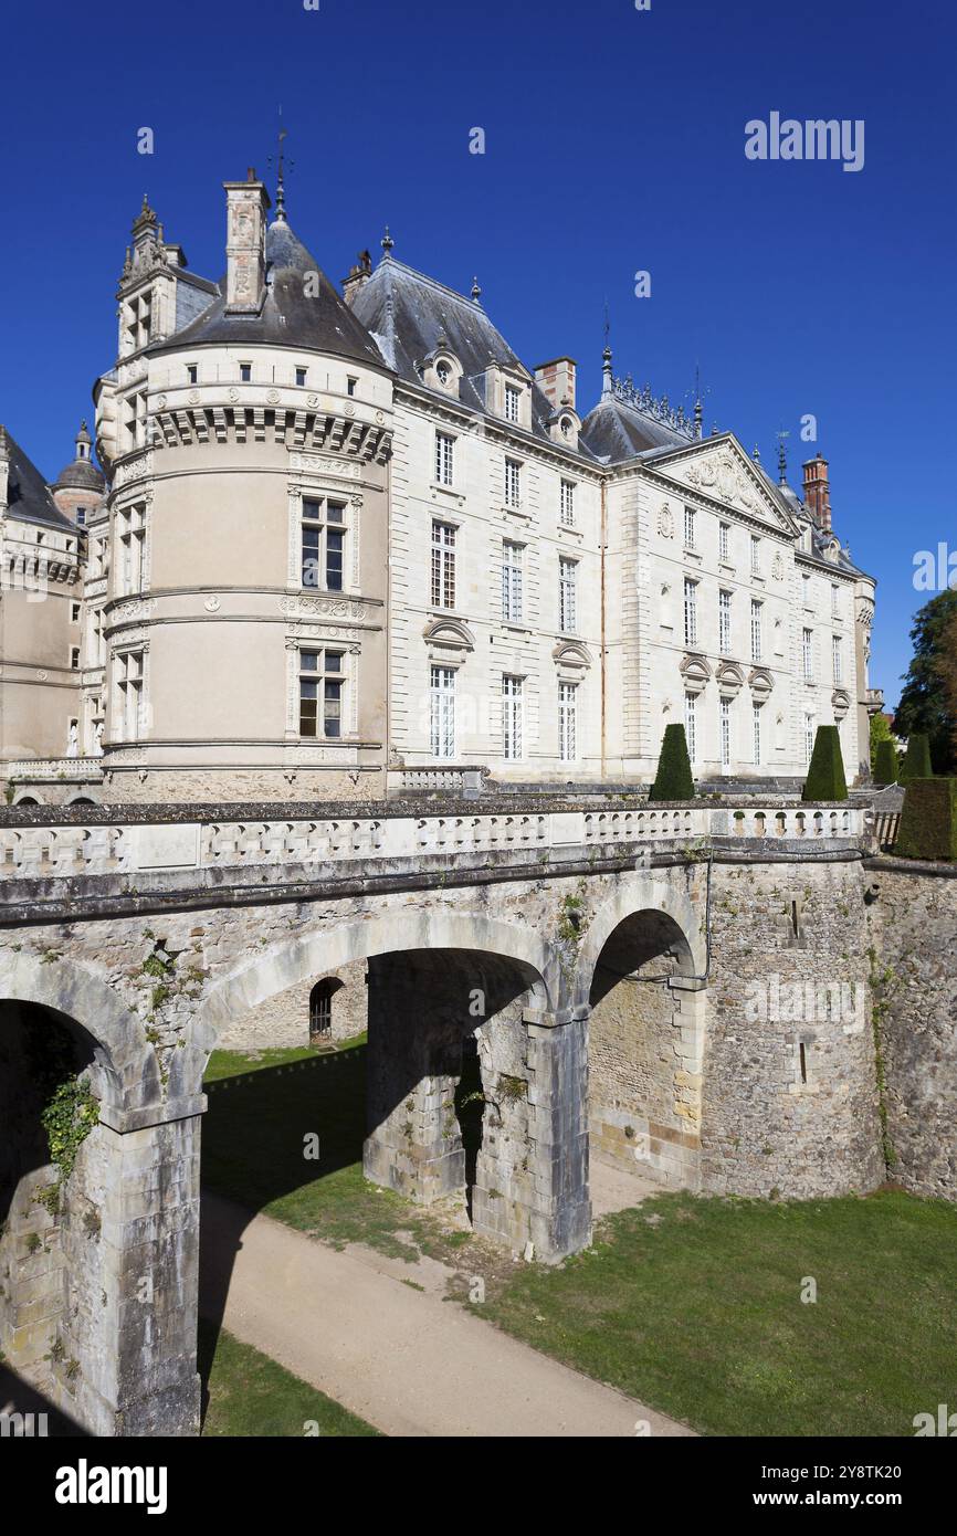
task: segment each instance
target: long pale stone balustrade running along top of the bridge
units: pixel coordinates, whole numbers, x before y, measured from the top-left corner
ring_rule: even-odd
[[[71,762],[71,760],[68,760]],[[75,765],[74,759],[71,765]],[[86,808],[84,808],[86,809]],[[568,800],[508,805],[495,811],[475,803],[418,813],[415,806],[382,803],[375,814],[224,816],[192,814],[126,820],[120,808],[51,813],[48,808],[0,813],[0,879],[69,879],[138,871],[212,871],[244,866],[315,866],[336,862],[499,856],[531,849],[550,862],[575,862],[582,851],[621,857],[651,845],[702,854],[708,846],[754,840],[819,848],[859,845],[865,811],[857,806],[780,806],[747,809],[730,805],[575,805]],[[217,808],[220,809],[220,808]],[[224,813],[235,808],[221,808]],[[338,808],[336,808],[338,811]],[[384,866],[384,865],[382,865]]]

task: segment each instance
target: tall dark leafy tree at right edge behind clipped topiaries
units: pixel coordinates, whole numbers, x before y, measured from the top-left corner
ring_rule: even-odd
[[[957,773],[957,591],[939,591],[917,613],[911,641],[914,656],[903,679],[900,703],[894,714],[897,736],[926,736],[931,760],[939,774]],[[948,682],[948,679],[951,679]]]

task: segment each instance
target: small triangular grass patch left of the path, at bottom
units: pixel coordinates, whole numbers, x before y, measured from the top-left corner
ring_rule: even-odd
[[[378,1436],[364,1419],[232,1333],[200,1322],[200,1375],[209,1392],[204,1436]]]

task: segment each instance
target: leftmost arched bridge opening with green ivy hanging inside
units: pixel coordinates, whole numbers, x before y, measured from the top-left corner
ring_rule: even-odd
[[[0,1001],[0,1396],[17,1412],[32,1412],[37,1395],[43,1412],[54,1404],[69,1412],[81,1385],[98,1258],[86,1166],[97,1127],[95,1051],[66,1014]]]

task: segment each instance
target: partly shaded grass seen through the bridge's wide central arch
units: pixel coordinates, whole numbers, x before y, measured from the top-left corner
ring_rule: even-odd
[[[203,1123],[203,1183],[333,1247],[367,1243],[392,1258],[452,1258],[472,1233],[450,1229],[363,1178],[366,1037],[338,1051],[215,1051]],[[320,1158],[303,1155],[320,1138]]]

